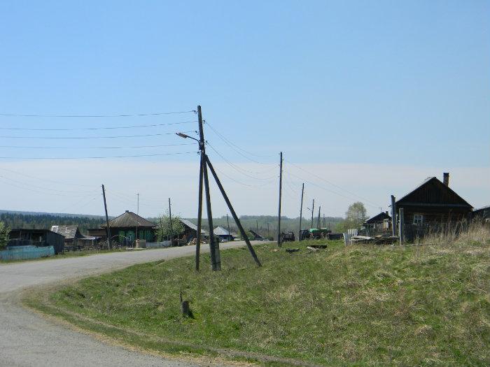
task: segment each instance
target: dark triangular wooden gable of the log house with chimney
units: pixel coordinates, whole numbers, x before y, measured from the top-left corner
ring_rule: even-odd
[[[437,206],[449,208],[473,207],[436,177],[429,177],[396,202],[396,206]]]

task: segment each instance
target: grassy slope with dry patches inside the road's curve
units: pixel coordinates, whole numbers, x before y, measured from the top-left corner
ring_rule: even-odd
[[[488,366],[488,240],[287,254],[256,247],[125,268],[27,303],[83,329],[160,352],[284,366]],[[182,317],[179,289],[194,318]],[[230,350],[246,353],[233,353]],[[267,358],[266,356],[274,356]]]

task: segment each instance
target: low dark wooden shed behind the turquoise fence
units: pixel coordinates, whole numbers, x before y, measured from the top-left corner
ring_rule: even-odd
[[[15,246],[52,246],[55,254],[64,252],[64,237],[49,229],[11,229],[8,240],[9,247]]]

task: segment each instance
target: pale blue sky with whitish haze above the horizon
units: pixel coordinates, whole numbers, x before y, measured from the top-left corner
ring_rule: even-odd
[[[301,182],[326,215],[356,200],[375,214],[443,171],[473,206],[490,203],[489,1],[2,1],[0,45],[3,114],[201,104],[209,156],[239,214],[276,214],[281,150],[288,216],[299,214]],[[172,133],[195,120],[0,116],[0,208],[101,214],[104,183],[111,215],[136,211],[139,192],[142,215],[172,196],[195,217],[195,153],[50,159],[195,152],[141,147],[193,143]],[[6,129],[174,122],[189,123]],[[216,189],[213,198],[224,215]]]

